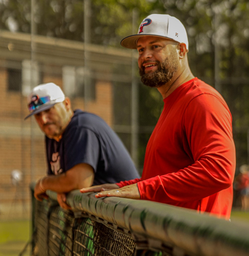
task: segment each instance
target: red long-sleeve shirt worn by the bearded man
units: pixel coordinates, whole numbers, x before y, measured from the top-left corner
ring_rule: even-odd
[[[235,146],[225,100],[198,78],[164,99],[138,183],[141,199],[230,218]]]

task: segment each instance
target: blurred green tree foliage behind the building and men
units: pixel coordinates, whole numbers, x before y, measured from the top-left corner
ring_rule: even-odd
[[[233,116],[237,163],[246,163],[244,138],[249,127],[249,3],[247,0],[92,0],[91,42],[120,46],[152,13],[170,14],[181,20],[189,38],[189,65],[193,74],[215,86],[218,73],[221,94]],[[30,0],[1,0],[0,28],[30,31]],[[84,6],[79,0],[36,0],[37,33],[71,40],[84,39]],[[215,47],[216,62],[215,67]],[[244,79],[242,79],[244,78]],[[246,82],[245,82],[246,81]],[[163,107],[155,89],[140,86],[141,125],[155,125]],[[146,145],[147,135],[143,145]],[[146,137],[146,139],[145,139]],[[141,145],[142,145],[141,144]],[[145,146],[143,146],[145,147]],[[144,148],[140,150],[144,152]],[[141,159],[143,158],[141,153]],[[241,157],[243,156],[243,157]],[[140,161],[142,163],[142,160]]]

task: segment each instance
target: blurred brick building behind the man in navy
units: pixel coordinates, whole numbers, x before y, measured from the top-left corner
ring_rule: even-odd
[[[73,109],[84,110],[88,81],[87,110],[116,131],[130,129],[129,123],[115,126],[113,83],[130,85],[131,51],[100,45],[87,49],[85,68],[82,42],[35,36],[31,44],[30,34],[0,31],[0,220],[27,217],[29,184],[46,171],[44,136],[33,118],[23,120],[32,87],[54,82],[71,98]],[[19,186],[11,179],[16,169],[23,173]]]

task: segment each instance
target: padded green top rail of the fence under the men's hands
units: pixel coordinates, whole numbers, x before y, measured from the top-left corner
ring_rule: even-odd
[[[34,189],[34,183],[31,189]],[[53,191],[46,192],[57,200]],[[118,197],[95,198],[96,193],[73,190],[67,203],[76,217],[88,214],[150,248],[175,248],[173,255],[249,255],[249,225],[198,214],[196,211],[152,201]]]

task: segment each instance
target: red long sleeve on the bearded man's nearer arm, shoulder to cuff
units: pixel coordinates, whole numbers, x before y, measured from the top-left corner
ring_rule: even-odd
[[[182,140],[194,163],[175,173],[138,182],[141,199],[195,201],[231,186],[235,146],[231,114],[225,102],[210,94],[195,97],[183,115]]]

